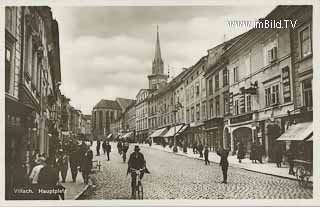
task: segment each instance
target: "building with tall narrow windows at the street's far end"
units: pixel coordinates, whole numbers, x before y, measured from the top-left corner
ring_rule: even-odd
[[[98,139],[108,136],[110,124],[121,115],[121,107],[117,101],[100,100],[92,110],[92,131],[93,136]]]

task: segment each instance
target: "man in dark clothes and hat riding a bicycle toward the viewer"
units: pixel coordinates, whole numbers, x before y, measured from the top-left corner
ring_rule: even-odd
[[[134,152],[131,153],[128,160],[127,173],[131,173],[131,189],[132,189],[131,196],[133,198],[135,198],[136,196],[135,186],[136,186],[137,174],[135,170],[140,170],[140,180],[143,178],[144,173],[149,173],[148,169],[146,168],[146,161],[144,159],[143,154],[140,152],[140,148],[138,145],[134,147]]]

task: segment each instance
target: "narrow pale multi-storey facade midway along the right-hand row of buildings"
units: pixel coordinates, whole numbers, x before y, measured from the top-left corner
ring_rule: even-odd
[[[184,76],[185,114],[186,123],[190,126],[186,133],[187,145],[208,145],[204,133],[206,120],[206,79],[204,72],[207,67],[207,56],[202,57],[195,65],[189,68]]]

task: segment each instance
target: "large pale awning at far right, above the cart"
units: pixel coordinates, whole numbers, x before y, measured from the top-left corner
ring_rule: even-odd
[[[299,123],[291,125],[289,129],[283,133],[278,141],[303,141],[312,135],[312,122]]]

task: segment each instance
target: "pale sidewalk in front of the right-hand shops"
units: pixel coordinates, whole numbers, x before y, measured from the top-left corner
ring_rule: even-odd
[[[149,147],[149,145],[143,145],[143,146]],[[166,146],[164,148],[161,145],[154,145],[153,144],[151,147],[154,149],[161,150],[161,151],[173,153],[172,152],[173,148],[169,148],[168,146]],[[200,158],[199,154],[193,154],[193,151],[191,148],[188,148],[187,153],[183,153],[181,151],[181,149],[179,148],[178,152],[176,154],[181,155],[181,156],[194,158],[194,159],[204,160],[204,158]],[[209,161],[214,162],[214,163],[220,163],[220,157],[215,152],[209,152]],[[233,167],[238,167],[238,168],[245,169],[248,171],[253,171],[253,172],[258,172],[258,173],[263,173],[263,174],[273,175],[273,176],[277,176],[277,177],[296,180],[295,176],[288,174],[289,166],[287,166],[287,165],[284,165],[281,168],[277,168],[275,163],[264,162],[263,164],[260,164],[260,163],[253,164],[251,162],[251,160],[249,160],[248,158],[243,159],[242,162],[239,163],[236,155],[229,156],[228,161],[229,161],[230,166],[233,166]],[[312,177],[310,178],[310,181],[313,182]]]

